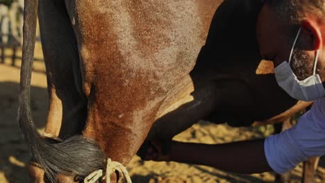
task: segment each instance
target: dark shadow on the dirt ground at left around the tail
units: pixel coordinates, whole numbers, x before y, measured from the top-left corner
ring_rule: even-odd
[[[0,82],[0,180],[8,182],[26,182],[28,178],[24,166],[30,157],[16,121],[18,92],[19,83]],[[33,119],[39,129],[44,127],[47,101],[47,89],[31,87]]]

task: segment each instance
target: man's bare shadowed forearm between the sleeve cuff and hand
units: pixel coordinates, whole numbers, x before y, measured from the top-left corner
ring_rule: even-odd
[[[182,143],[173,141],[170,161],[213,166],[234,173],[272,171],[264,153],[264,139],[224,144]]]

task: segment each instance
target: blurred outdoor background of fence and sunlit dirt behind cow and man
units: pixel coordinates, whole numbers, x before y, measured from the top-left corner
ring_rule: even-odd
[[[16,121],[19,72],[22,57],[23,0],[0,0],[0,183],[28,182],[26,164],[30,159],[28,148]],[[48,96],[40,35],[35,48],[31,105],[33,119],[40,130],[47,116]],[[287,121],[295,123],[299,115]],[[267,137],[281,130],[282,125],[256,128],[231,128],[199,121],[192,128],[178,134],[178,141],[198,143],[226,143]],[[184,152],[188,153],[188,152]],[[315,182],[325,182],[325,163],[320,161]],[[234,165],[235,166],[235,165]],[[324,166],[325,167],[325,166]],[[290,175],[289,182],[301,182],[302,165]],[[142,162],[135,156],[128,166],[133,182],[274,182],[274,173],[238,175],[207,166],[177,164],[174,162]]]

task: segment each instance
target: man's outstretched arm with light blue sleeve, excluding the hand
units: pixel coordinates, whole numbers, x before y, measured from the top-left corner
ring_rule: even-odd
[[[174,141],[170,160],[214,166],[235,173],[285,173],[309,157],[325,154],[325,98],[316,101],[297,125],[265,140],[218,145]]]

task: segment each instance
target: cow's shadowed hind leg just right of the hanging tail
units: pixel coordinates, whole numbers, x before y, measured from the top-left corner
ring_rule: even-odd
[[[67,139],[81,134],[87,114],[87,101],[78,88],[81,74],[76,40],[61,1],[40,1],[39,20],[49,92],[45,132]],[[35,182],[43,180],[44,171],[38,166],[29,166],[28,171]]]

